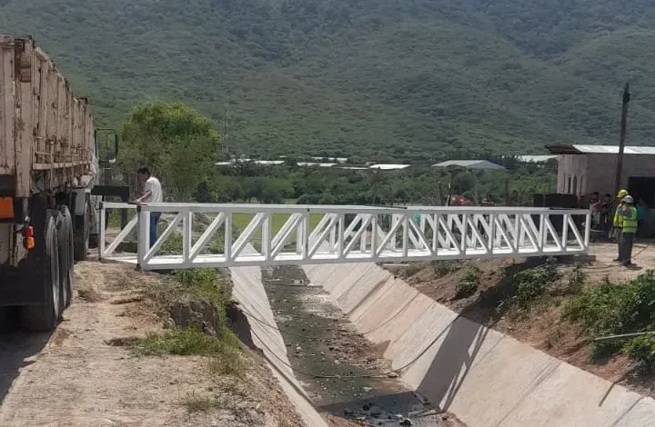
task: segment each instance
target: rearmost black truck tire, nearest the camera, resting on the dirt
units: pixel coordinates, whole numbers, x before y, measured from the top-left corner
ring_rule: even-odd
[[[63,307],[61,306],[61,283],[59,273],[59,251],[56,223],[52,216],[45,220],[44,248],[32,253],[35,258],[33,280],[43,286],[45,303],[24,305],[21,308],[21,324],[27,331],[47,332],[55,329]],[[36,250],[35,250],[36,251]],[[40,268],[38,266],[40,265]]]

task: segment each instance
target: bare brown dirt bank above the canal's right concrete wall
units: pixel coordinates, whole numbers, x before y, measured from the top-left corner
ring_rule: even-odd
[[[589,286],[605,278],[611,281],[627,281],[640,273],[655,269],[655,246],[650,241],[638,242],[633,249],[634,268],[621,267],[612,260],[617,256],[613,243],[594,243],[590,256],[562,260],[558,265],[560,281],[567,281],[574,263],[579,263]],[[625,355],[592,362],[593,343],[578,327],[562,319],[567,296],[554,296],[549,303],[539,306],[530,313],[515,315],[504,309],[501,302],[511,297],[513,273],[535,266],[536,259],[493,259],[478,261],[480,269],[479,292],[469,298],[455,299],[458,273],[438,277],[430,264],[424,264],[418,273],[406,281],[421,293],[438,303],[447,305],[472,321],[483,323],[495,330],[529,343],[565,362],[593,372],[610,382],[619,383],[636,392],[655,397],[655,382],[634,375],[634,366]],[[401,271],[398,270],[398,274]]]

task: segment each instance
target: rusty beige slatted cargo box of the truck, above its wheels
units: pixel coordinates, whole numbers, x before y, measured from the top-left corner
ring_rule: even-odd
[[[15,197],[80,188],[92,172],[94,121],[33,40],[0,35],[0,175]]]

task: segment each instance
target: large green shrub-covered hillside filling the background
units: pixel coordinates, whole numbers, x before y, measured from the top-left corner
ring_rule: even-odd
[[[608,0],[0,0],[101,124],[137,103],[227,112],[233,154],[428,160],[655,144],[655,5]],[[226,107],[226,105],[228,105]]]

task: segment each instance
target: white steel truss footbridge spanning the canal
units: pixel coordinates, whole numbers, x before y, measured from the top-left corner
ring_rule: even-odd
[[[126,228],[106,230],[107,212],[124,209],[133,216]],[[162,213],[152,248],[151,212]],[[100,258],[143,270],[564,255],[589,248],[587,210],[104,203],[100,216]],[[135,240],[136,250],[121,252]]]

